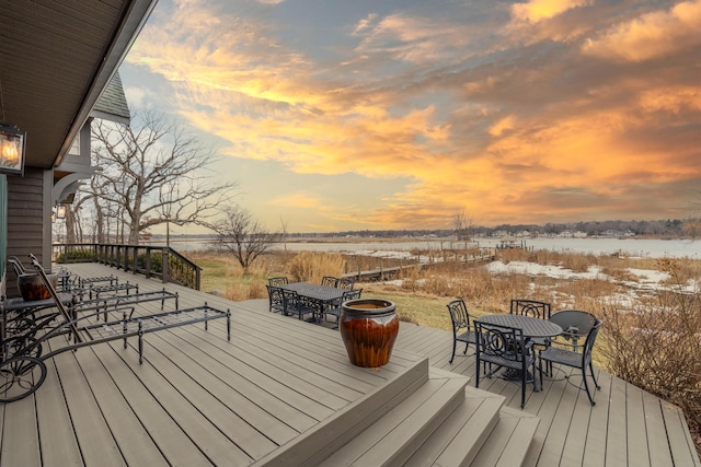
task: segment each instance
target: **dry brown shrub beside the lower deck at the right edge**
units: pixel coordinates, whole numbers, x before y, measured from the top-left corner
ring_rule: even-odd
[[[675,280],[673,290],[637,299],[628,312],[604,305],[601,348],[611,374],[683,409],[699,447],[701,300],[698,290],[688,291],[688,272],[679,261],[665,259],[659,266]]]

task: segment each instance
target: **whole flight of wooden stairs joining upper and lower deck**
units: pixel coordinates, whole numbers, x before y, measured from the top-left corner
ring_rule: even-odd
[[[424,363],[415,369],[424,376],[414,371],[409,386],[370,395],[256,465],[522,465],[539,419],[475,389],[469,377]]]

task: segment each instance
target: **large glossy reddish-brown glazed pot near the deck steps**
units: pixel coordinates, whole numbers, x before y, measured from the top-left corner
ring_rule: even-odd
[[[395,305],[389,300],[357,299],[342,305],[338,329],[350,363],[377,367],[389,362],[399,332]]]

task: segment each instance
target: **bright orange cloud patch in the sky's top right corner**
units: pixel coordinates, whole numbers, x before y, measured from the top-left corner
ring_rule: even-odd
[[[685,1],[668,11],[644,13],[617,24],[588,39],[582,51],[606,59],[645,61],[701,46],[700,31],[701,0]]]

